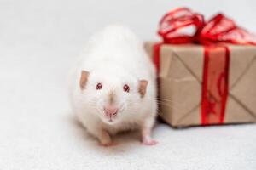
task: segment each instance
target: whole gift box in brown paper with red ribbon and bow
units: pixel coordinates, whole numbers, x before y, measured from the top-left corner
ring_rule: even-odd
[[[224,30],[226,25],[217,26],[225,31],[219,34],[216,25],[232,20],[224,15],[217,20],[218,14],[212,19],[217,20],[215,27],[211,27],[212,20],[202,26],[198,24],[201,15],[190,11],[190,15],[183,13],[184,26],[198,26],[197,31],[194,35],[179,35],[172,22],[183,27],[184,17],[176,12],[180,11],[166,14],[160,22],[163,42],[145,44],[158,71],[160,117],[173,127],[256,122],[254,37],[236,25],[235,31],[230,25],[229,31]],[[179,23],[176,18],[173,21],[175,14],[183,17]],[[193,19],[190,24],[188,15]],[[232,36],[237,31],[242,37]]]

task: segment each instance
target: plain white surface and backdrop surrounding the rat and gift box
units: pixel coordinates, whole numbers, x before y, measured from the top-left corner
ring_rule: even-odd
[[[151,39],[162,14],[186,5],[207,16],[224,10],[256,31],[255,1],[234,2],[1,0],[0,169],[256,169],[255,125],[161,124],[154,147],[130,133],[116,138],[119,146],[101,148],[67,105],[68,68],[96,28],[122,21]]]

